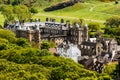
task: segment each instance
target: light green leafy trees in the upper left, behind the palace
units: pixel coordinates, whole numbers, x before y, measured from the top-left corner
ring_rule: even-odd
[[[2,5],[1,11],[5,17],[5,20],[7,20],[8,22],[13,22],[16,17],[19,21],[28,20],[32,17],[31,12],[25,5],[18,6]]]

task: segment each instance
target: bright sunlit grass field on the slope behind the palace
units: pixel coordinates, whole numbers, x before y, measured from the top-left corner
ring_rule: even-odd
[[[120,1],[119,4],[115,5],[114,2],[105,3],[88,0],[85,3],[77,3],[74,6],[51,12],[44,12],[43,7],[37,7],[37,9],[39,13],[35,14],[33,18],[40,18],[42,21],[45,21],[46,17],[56,18],[57,21],[60,20],[60,18],[69,20],[81,18],[84,19],[86,23],[95,21],[102,25],[107,18],[111,16],[120,16]],[[0,15],[0,24],[2,24],[3,21],[4,18]]]

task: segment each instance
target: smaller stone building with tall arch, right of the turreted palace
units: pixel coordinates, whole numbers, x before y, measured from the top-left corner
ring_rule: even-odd
[[[113,38],[90,38],[88,41],[83,41],[79,47],[82,55],[88,56],[105,54],[112,56],[113,52],[118,52],[117,41]]]

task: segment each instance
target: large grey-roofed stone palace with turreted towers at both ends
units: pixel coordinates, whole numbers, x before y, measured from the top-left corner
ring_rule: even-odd
[[[8,25],[7,29],[15,32],[17,37],[24,37],[30,42],[41,42],[43,40],[53,40],[57,45],[63,41],[69,41],[76,44],[81,44],[83,41],[88,40],[87,25],[81,27],[75,23],[71,26],[69,21],[64,23],[55,22],[55,19],[46,18],[46,22],[40,22],[37,19],[35,22],[19,23],[16,21],[14,24]]]

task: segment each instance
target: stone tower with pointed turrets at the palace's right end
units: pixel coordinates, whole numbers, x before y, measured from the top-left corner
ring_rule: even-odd
[[[80,45],[83,41],[88,41],[88,28],[81,28],[77,23],[74,23],[70,29],[70,41]]]

